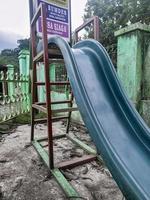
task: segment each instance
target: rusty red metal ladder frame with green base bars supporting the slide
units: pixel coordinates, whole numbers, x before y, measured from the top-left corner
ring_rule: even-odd
[[[35,147],[38,154],[43,159],[46,166],[50,169],[53,176],[56,178],[58,183],[60,184],[61,188],[64,190],[66,195],[71,198],[80,198],[79,194],[72,188],[72,186],[69,184],[69,182],[65,179],[65,177],[62,175],[59,169],[66,169],[75,167],[81,164],[85,164],[87,162],[93,161],[97,158],[96,152],[94,150],[91,150],[90,147],[88,147],[86,144],[84,144],[82,141],[72,138],[69,136],[69,134],[63,134],[62,136],[53,136],[53,129],[52,129],[52,123],[54,121],[58,121],[60,119],[68,119],[67,123],[67,133],[69,132],[69,124],[71,119],[71,113],[72,111],[75,111],[76,109],[73,108],[73,94],[71,94],[71,99],[69,101],[66,101],[65,103],[68,103],[70,105],[71,109],[68,109],[68,116],[52,118],[53,110],[51,109],[52,104],[59,104],[64,103],[63,102],[51,102],[51,86],[52,85],[69,85],[69,81],[66,82],[51,82],[49,77],[49,49],[48,49],[48,39],[47,39],[47,24],[46,24],[46,7],[44,4],[40,4],[36,13],[33,13],[33,2],[32,0],[29,0],[30,5],[30,26],[31,26],[31,43],[32,43],[32,108],[31,108],[31,142],[33,146]],[[70,4],[71,5],[71,4]],[[70,13],[71,14],[71,13]],[[40,52],[38,55],[36,53],[36,22],[38,18],[41,16],[42,21],[42,36],[43,36],[43,51]],[[93,18],[89,23],[93,22],[95,23],[95,27],[97,24],[97,18]],[[80,31],[80,28],[78,29]],[[77,32],[78,32],[77,31]],[[95,37],[98,38],[98,32],[96,33]],[[37,82],[37,72],[36,72],[36,63],[43,60],[44,62],[44,68],[45,68],[45,83],[44,82]],[[37,87],[45,85],[46,88],[46,102],[38,103],[38,95],[37,95]],[[35,119],[36,110],[40,110],[42,112],[45,112],[47,114],[47,118],[45,119]],[[58,110],[57,110],[58,112]],[[66,112],[66,110],[61,110],[59,112]],[[47,122],[47,138],[41,138],[41,139],[35,139],[34,137],[34,125],[39,122]],[[76,145],[83,148],[85,151],[87,151],[90,155],[84,156],[82,159],[74,159],[71,161],[66,161],[65,163],[59,163],[58,166],[55,167],[54,165],[54,152],[53,152],[53,140],[58,139],[61,137],[67,137],[69,140],[71,140]],[[44,150],[44,147],[41,145],[41,141],[48,141],[48,144],[46,147],[48,147],[48,153]],[[94,153],[92,153],[94,152]]]

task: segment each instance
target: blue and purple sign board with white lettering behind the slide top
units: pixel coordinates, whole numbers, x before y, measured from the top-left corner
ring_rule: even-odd
[[[46,5],[47,32],[49,35],[59,35],[70,41],[70,1],[69,0],[37,0]],[[41,19],[38,23],[38,31],[42,32]]]

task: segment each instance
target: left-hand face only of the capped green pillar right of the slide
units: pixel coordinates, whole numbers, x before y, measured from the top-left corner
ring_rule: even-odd
[[[129,98],[139,106],[142,84],[142,31],[140,23],[115,32],[118,38],[117,73]]]

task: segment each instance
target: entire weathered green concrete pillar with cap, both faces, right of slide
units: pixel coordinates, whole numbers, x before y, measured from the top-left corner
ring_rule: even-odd
[[[129,98],[150,125],[150,26],[136,23],[115,32],[117,72]]]

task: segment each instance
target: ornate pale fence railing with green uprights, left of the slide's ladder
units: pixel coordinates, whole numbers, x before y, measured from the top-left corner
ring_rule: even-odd
[[[0,72],[0,123],[30,111],[29,76]]]

